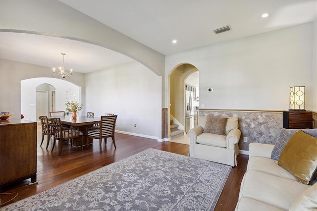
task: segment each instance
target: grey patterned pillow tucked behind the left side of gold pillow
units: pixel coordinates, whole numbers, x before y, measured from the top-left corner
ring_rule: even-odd
[[[282,129],[278,139],[275,143],[275,146],[272,150],[271,158],[278,160],[281,152],[283,151],[285,144],[288,142],[288,140],[296,133],[299,129]]]

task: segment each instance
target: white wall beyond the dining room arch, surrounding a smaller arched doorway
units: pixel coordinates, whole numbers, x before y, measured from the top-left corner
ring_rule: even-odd
[[[41,84],[50,84],[55,88],[56,111],[65,111],[65,103],[69,100],[82,102],[81,87],[68,81],[56,78],[21,80],[21,113],[26,120],[38,121],[36,116],[36,89]],[[79,111],[79,115],[81,115],[81,112]]]

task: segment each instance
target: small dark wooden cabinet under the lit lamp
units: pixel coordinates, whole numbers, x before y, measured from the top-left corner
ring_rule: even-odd
[[[313,128],[312,111],[283,111],[283,128],[305,129]]]

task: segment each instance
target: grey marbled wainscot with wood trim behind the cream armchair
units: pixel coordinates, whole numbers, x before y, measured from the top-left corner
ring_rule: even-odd
[[[275,144],[280,130],[283,128],[282,111],[226,111],[199,110],[199,115],[237,116],[241,137],[239,149],[249,151],[249,143]],[[248,137],[248,143],[243,142]]]

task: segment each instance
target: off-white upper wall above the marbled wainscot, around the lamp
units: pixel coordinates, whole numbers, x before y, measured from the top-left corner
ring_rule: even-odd
[[[312,23],[167,55],[165,61],[165,80],[180,63],[197,67],[200,108],[284,110],[289,87],[306,86],[306,109],[317,110]]]

